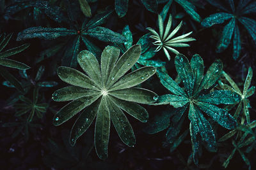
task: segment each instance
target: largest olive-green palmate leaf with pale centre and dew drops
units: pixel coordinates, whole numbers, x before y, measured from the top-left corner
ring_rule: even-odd
[[[157,100],[154,92],[134,87],[156,73],[155,67],[142,67],[124,75],[140,57],[140,45],[131,46],[118,59],[119,53],[118,48],[106,46],[99,64],[93,53],[83,50],[77,59],[88,76],[70,67],[59,67],[61,80],[74,86],[64,87],[52,94],[54,101],[71,101],[56,113],[54,125],[63,124],[88,106],[73,125],[70,144],[75,145],[77,138],[96,118],[94,141],[100,159],[108,157],[110,122],[120,139],[127,146],[134,146],[134,132],[122,110],[141,122],[147,122],[147,111],[136,103],[150,104]]]

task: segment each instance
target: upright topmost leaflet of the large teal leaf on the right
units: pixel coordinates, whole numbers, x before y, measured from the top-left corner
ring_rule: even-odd
[[[198,89],[203,77],[204,77],[204,60],[200,57],[200,55],[195,54],[191,58],[190,65],[192,71],[194,73],[195,84],[194,84],[194,94]]]

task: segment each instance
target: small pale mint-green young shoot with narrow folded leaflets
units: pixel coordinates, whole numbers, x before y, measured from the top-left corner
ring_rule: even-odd
[[[180,28],[182,26],[182,21],[172,31],[172,29],[171,29],[172,28],[172,15],[169,16],[169,19],[168,19],[165,29],[164,29],[163,18],[161,17],[161,15],[158,15],[158,25],[159,25],[159,34],[154,29],[152,29],[150,27],[148,27],[147,29],[152,34],[152,36],[150,36],[150,38],[156,40],[153,43],[154,45],[157,46],[156,52],[158,52],[159,50],[161,50],[163,48],[164,53],[165,53],[166,57],[168,58],[168,60],[171,59],[168,51],[178,54],[179,52],[177,50],[175,50],[175,47],[186,47],[186,46],[189,46],[187,44],[189,41],[196,40],[195,38],[188,37],[190,34],[192,34],[192,31],[188,32],[187,34],[177,36],[175,38],[173,37],[180,30]]]

